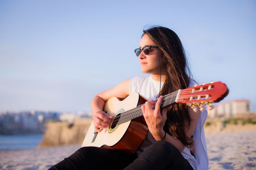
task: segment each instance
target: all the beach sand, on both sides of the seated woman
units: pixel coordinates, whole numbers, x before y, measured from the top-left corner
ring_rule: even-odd
[[[256,169],[256,131],[207,134],[209,169]],[[79,146],[0,151],[0,169],[48,169]]]

